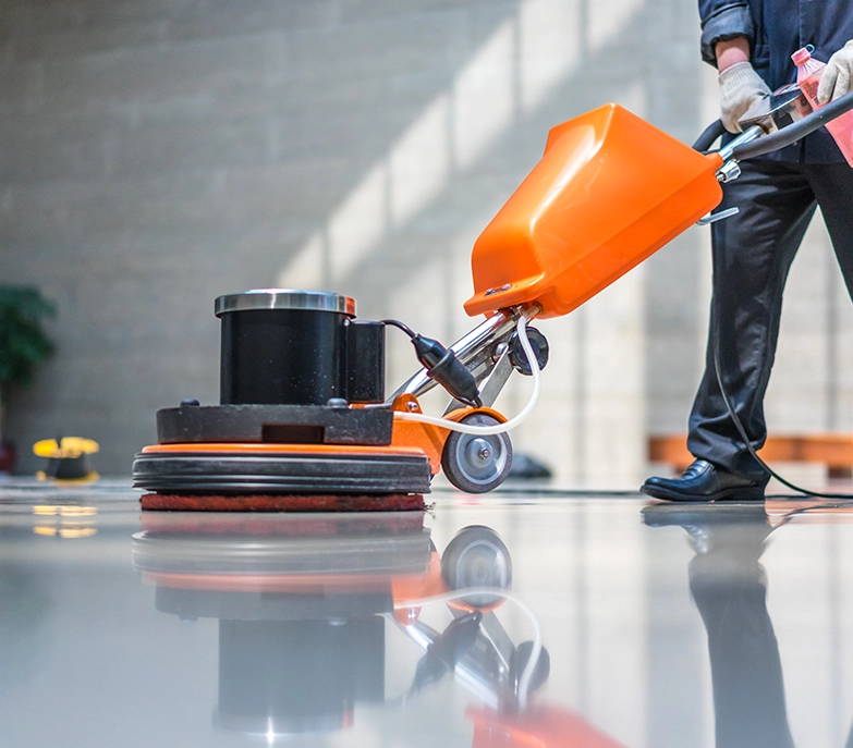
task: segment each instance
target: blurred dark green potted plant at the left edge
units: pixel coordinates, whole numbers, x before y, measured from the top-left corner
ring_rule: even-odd
[[[41,329],[57,309],[35,286],[0,285],[0,473],[12,468],[14,445],[5,439],[5,408],[13,388],[26,385],[52,352]]]

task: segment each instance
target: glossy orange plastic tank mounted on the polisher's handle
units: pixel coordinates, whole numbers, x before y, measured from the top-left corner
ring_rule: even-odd
[[[474,244],[465,311],[569,314],[719,205],[721,165],[614,103],[553,127]]]

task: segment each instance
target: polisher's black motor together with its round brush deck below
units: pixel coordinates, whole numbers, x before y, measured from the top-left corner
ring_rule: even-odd
[[[167,508],[186,495],[272,494],[394,494],[402,506],[400,496],[429,492],[426,454],[379,449],[393,441],[391,407],[351,407],[385,401],[382,322],[356,320],[339,294],[280,289],[220,296],[216,315],[221,402],[160,408],[157,443],[176,449],[137,454],[135,488],[166,496]],[[306,449],[267,449],[284,444]],[[163,504],[149,496],[148,507]]]

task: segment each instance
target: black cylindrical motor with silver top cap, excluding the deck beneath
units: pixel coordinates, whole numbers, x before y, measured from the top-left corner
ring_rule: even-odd
[[[326,405],[385,400],[385,326],[355,320],[355,302],[263,289],[220,296],[222,405]]]

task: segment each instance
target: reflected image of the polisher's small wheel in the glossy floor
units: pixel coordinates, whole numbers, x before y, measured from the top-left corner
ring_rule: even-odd
[[[466,587],[512,587],[512,556],[498,534],[484,525],[461,529],[441,554],[441,578],[452,590]],[[476,609],[497,605],[503,598],[476,594],[462,601]]]

